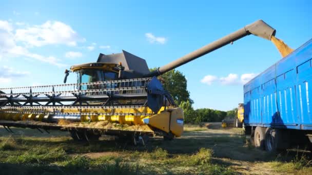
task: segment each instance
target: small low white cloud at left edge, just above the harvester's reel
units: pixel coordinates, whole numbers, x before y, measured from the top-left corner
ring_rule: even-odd
[[[0,67],[0,83],[9,83],[12,81],[12,78],[20,78],[27,75],[29,75],[29,72],[15,71],[6,65]]]

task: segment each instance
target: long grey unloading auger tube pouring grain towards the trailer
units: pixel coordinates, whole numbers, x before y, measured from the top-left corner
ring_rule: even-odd
[[[146,74],[145,77],[153,77],[153,76],[162,75],[168,71],[178,68],[180,65],[183,65],[189,61],[192,61],[196,58],[206,55],[214,50],[217,50],[247,35],[253,34],[253,35],[262,37],[264,39],[271,40],[271,37],[275,36],[275,33],[276,33],[276,30],[270,27],[269,25],[267,25],[263,20],[257,20],[255,23],[247,25],[243,27],[242,29],[239,29],[236,32],[233,32],[225,37],[220,38],[219,40],[211,42],[208,45],[196,51],[193,51],[177,60],[174,60],[164,65],[163,67],[158,68],[157,70],[149,74]]]

